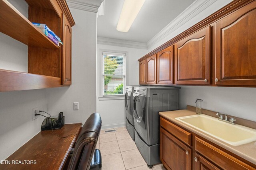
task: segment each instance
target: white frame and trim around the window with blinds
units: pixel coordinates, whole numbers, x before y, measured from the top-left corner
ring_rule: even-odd
[[[124,55],[124,81],[123,81],[123,92],[124,94],[113,94],[113,95],[104,95],[104,54],[113,54],[113,55]],[[128,84],[128,52],[127,51],[116,51],[116,50],[109,50],[109,49],[99,49],[98,54],[98,87],[99,87],[99,100],[122,100],[125,96],[125,86]]]

